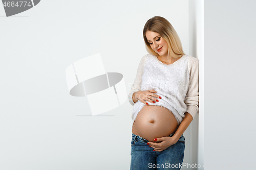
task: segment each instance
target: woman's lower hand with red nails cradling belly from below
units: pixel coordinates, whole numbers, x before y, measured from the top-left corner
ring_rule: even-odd
[[[152,148],[154,148],[155,151],[161,152],[165,150],[166,148],[170,147],[171,145],[177,143],[179,139],[176,139],[175,137],[159,137],[156,138],[156,141],[161,141],[161,142],[147,142],[148,145],[150,145]]]

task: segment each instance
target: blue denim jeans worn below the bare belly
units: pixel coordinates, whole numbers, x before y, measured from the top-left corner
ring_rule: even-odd
[[[169,136],[173,136],[170,134]],[[179,140],[165,150],[158,152],[146,144],[148,140],[132,134],[131,141],[131,170],[145,169],[180,169],[185,151],[185,137],[183,134]]]

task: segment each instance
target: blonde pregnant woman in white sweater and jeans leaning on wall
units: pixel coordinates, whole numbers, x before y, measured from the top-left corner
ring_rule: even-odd
[[[180,38],[163,17],[143,29],[141,58],[129,92],[134,106],[131,169],[180,169],[183,132],[198,113],[198,59],[183,53]]]

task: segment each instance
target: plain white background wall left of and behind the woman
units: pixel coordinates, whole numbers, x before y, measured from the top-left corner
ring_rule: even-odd
[[[91,116],[87,99],[69,94],[66,68],[100,53],[128,94],[148,19],[169,20],[188,54],[188,0],[45,0],[7,18],[0,10],[0,169],[129,169],[133,106]]]

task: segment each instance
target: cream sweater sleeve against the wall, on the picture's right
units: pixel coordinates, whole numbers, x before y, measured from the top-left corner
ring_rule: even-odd
[[[189,56],[188,59],[188,70],[190,78],[189,78],[189,87],[187,91],[187,96],[185,99],[185,104],[187,105],[188,112],[194,119],[196,114],[198,113],[199,107],[199,88],[198,88],[198,59]]]

